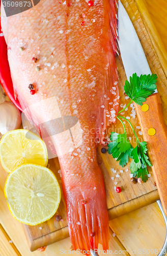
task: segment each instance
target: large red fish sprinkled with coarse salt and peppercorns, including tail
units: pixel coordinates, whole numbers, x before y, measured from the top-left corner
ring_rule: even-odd
[[[97,0],[92,7],[84,0],[66,4],[41,0],[34,8],[8,18],[1,8],[2,29],[11,48],[8,60],[15,95],[27,118],[39,130],[45,130],[53,152],[59,153],[75,250],[96,249],[98,243],[104,250],[108,248],[108,214],[96,146],[118,113],[116,13],[113,0]],[[19,47],[24,51],[20,52]],[[36,66],[41,67],[39,72]],[[34,84],[35,95],[30,94],[30,83]],[[110,111],[112,116],[108,115]],[[69,136],[66,132],[51,136],[56,131],[49,120],[72,115],[79,120],[82,143],[77,146],[80,153],[75,149],[65,154],[71,143]],[[43,127],[41,123],[46,122]],[[77,129],[74,125],[71,131],[78,139]],[[83,200],[87,201],[85,205]]]

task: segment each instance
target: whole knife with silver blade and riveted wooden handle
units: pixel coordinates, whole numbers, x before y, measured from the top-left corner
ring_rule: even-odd
[[[127,79],[151,75],[145,53],[133,24],[121,1],[118,5],[118,45]],[[133,102],[134,103],[134,102]],[[157,91],[149,96],[143,106],[134,103],[144,140],[148,143],[148,154],[163,206],[167,216],[167,127],[162,115],[161,99]]]

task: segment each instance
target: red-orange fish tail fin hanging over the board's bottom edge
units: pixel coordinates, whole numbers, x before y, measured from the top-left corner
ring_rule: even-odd
[[[99,243],[103,246],[103,250],[108,249],[108,212],[102,180],[100,186],[95,190],[93,187],[89,188],[92,192],[85,198],[83,197],[83,191],[79,192],[79,186],[76,186],[75,194],[70,191],[67,197],[66,191],[63,189],[66,199],[69,234],[74,250],[90,251],[90,249],[98,249]],[[86,200],[87,203],[82,204],[83,200]]]

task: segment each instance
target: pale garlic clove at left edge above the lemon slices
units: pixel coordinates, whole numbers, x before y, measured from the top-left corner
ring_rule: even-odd
[[[21,113],[17,107],[9,101],[0,104],[0,133],[18,129],[21,124]]]

